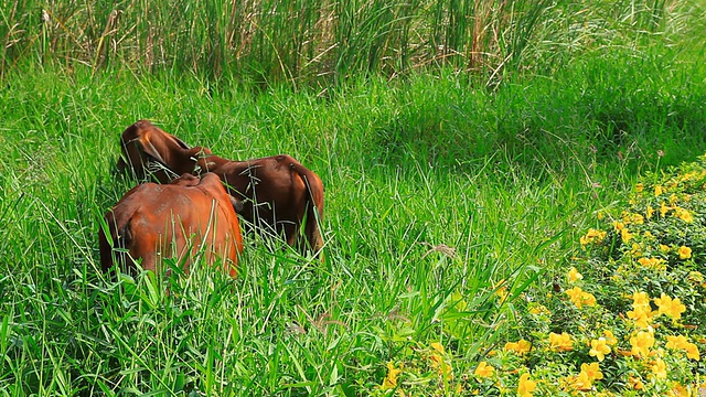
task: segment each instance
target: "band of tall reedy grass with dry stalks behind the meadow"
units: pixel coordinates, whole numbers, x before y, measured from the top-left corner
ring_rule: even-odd
[[[703,29],[671,1],[38,1],[0,3],[0,77],[39,61],[328,85],[451,65],[492,81],[638,36]],[[492,78],[490,78],[492,77]]]

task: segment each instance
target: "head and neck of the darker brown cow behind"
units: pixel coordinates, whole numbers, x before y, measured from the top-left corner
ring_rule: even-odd
[[[131,169],[140,180],[151,175],[161,183],[192,173],[201,151],[211,153],[208,149],[190,148],[149,120],[139,120],[128,127],[120,137],[120,147],[122,158],[118,160],[118,171]]]

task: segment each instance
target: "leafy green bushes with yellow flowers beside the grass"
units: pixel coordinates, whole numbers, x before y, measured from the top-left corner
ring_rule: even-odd
[[[535,282],[507,305],[506,340],[473,369],[454,374],[453,354],[443,352],[448,365],[436,374],[443,394],[706,393],[706,155],[643,178],[622,208],[596,214],[577,243],[566,268],[550,271],[552,282]],[[493,291],[499,305],[512,293]],[[399,363],[378,391],[414,390],[404,379],[418,378],[419,363],[413,374]]]

